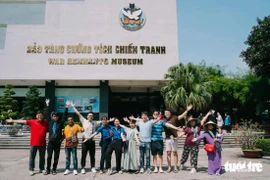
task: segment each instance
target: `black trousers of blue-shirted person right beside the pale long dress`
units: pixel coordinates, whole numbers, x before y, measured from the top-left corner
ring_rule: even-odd
[[[105,155],[106,169],[112,167],[111,160],[112,160],[112,153],[114,151],[116,159],[116,171],[121,170],[122,144],[123,144],[122,140],[118,139],[112,140],[112,142],[110,143]]]

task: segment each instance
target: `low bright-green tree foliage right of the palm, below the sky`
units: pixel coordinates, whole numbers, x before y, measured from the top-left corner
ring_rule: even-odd
[[[215,108],[237,108],[245,118],[261,115],[267,109],[266,101],[270,99],[270,83],[267,78],[255,76],[249,71],[232,77],[212,76],[210,80],[213,82],[210,89]]]

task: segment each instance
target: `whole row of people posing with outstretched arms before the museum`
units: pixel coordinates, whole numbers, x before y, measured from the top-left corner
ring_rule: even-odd
[[[95,169],[95,140],[94,137],[101,133],[101,158],[99,173],[105,172],[111,175],[113,173],[111,166],[112,153],[115,152],[116,172],[123,173],[152,173],[150,168],[150,152],[153,156],[154,173],[164,173],[163,164],[163,149],[167,153],[167,172],[175,172],[185,169],[184,164],[187,162],[189,154],[191,171],[197,172],[199,142],[204,140],[205,144],[214,146],[214,151],[207,151],[208,155],[208,174],[220,175],[221,173],[221,143],[223,135],[221,128],[216,124],[218,117],[212,115],[209,111],[202,120],[194,118],[190,110],[192,105],[189,105],[185,112],[181,115],[175,115],[170,109],[166,109],[164,117],[159,111],[153,112],[153,118],[148,117],[147,112],[142,112],[140,118],[130,116],[123,120],[128,123],[128,126],[120,124],[118,118],[102,117],[100,121],[93,120],[93,113],[88,113],[84,118],[76,109],[71,101],[66,102],[66,108],[62,119],[59,119],[59,114],[49,112],[50,100],[46,99],[46,118],[41,111],[37,112],[36,120],[13,120],[7,119],[7,123],[23,123],[31,128],[30,137],[30,156],[29,156],[29,174],[34,175],[35,156],[39,151],[39,169],[44,175],[57,173],[57,165],[62,141],[64,141],[66,154],[66,167],[64,175],[71,173],[70,162],[71,154],[73,161],[73,174],[78,174],[78,158],[77,146],[79,140],[78,133],[82,135],[82,153],[81,153],[81,173],[86,173],[86,157],[89,152],[91,162],[91,172],[96,173]],[[74,123],[72,116],[67,116],[68,107],[71,106],[74,112],[78,115],[82,127]],[[46,120],[45,120],[46,119]],[[65,121],[68,121],[63,129]],[[176,127],[177,121],[186,120],[185,128]],[[114,126],[109,125],[113,122]],[[205,132],[200,135],[200,131],[205,129]],[[220,129],[218,129],[220,128]],[[165,142],[163,142],[163,129],[165,131]],[[45,169],[45,152],[46,152],[46,134],[49,131],[49,142],[47,145],[47,167]],[[179,131],[180,133],[177,133]],[[178,168],[178,153],[177,139],[186,135],[185,145],[183,148],[182,158],[180,160],[180,168]],[[136,146],[139,146],[140,156],[137,156]],[[54,154],[54,162],[51,169],[52,155]],[[124,160],[122,163],[122,154]],[[174,157],[172,165],[172,154]],[[139,159],[139,162],[138,162]],[[104,167],[104,162],[106,166]],[[173,167],[172,167],[173,166]]]

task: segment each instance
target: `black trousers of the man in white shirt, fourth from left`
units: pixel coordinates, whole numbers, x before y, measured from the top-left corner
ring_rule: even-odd
[[[84,139],[83,139],[83,141],[84,141]],[[87,152],[89,152],[91,168],[94,168],[95,167],[95,153],[96,153],[95,141],[88,140],[85,143],[82,143],[82,158],[81,158],[82,168],[85,168]]]

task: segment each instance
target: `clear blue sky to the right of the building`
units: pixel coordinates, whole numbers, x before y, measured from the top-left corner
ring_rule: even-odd
[[[237,73],[249,69],[239,55],[257,17],[270,15],[270,0],[177,0],[177,11],[180,62]]]

